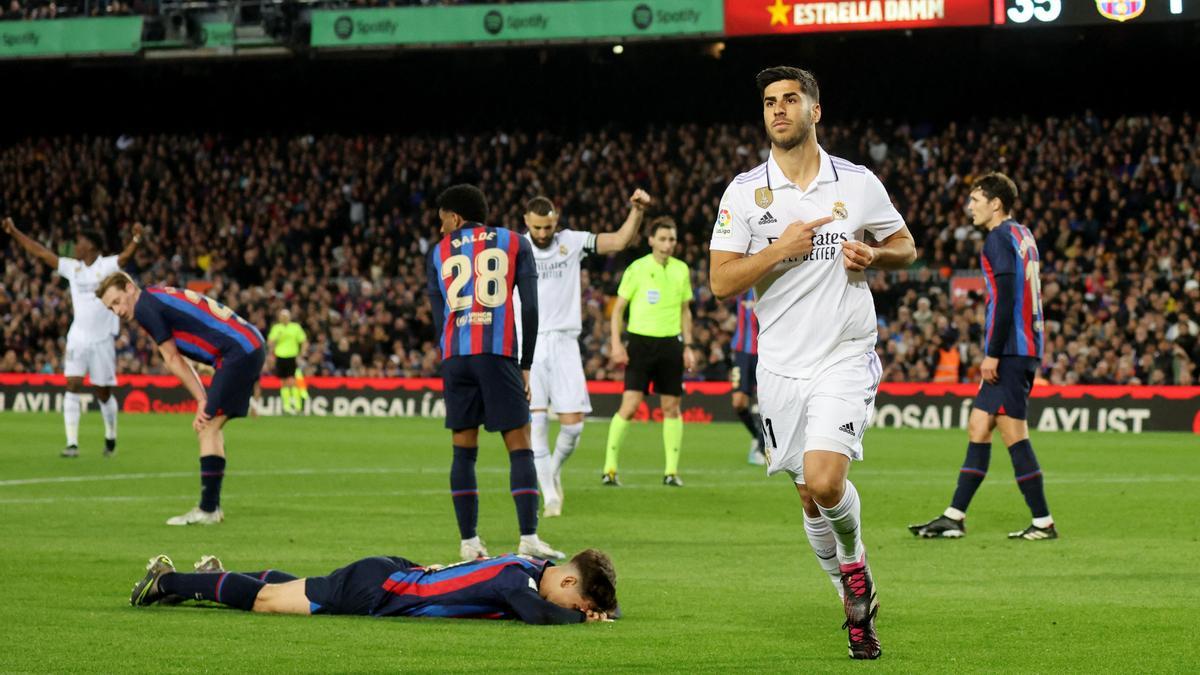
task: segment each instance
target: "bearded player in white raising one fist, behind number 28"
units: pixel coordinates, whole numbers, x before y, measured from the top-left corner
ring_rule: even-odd
[[[588,383],[580,357],[580,261],[588,253],[607,256],[629,247],[637,238],[650,196],[635,190],[629,216],[617,232],[558,229],[559,213],[546,197],[526,207],[526,237],[538,265],[538,350],[529,371],[529,407],[533,414],[533,461],[545,503],[542,515],[563,514],[563,464],[580,444],[583,416],[592,412]],[[550,453],[547,410],[558,413],[558,438]]]

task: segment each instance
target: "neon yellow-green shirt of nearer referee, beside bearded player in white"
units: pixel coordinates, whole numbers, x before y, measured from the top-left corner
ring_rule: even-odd
[[[674,338],[683,333],[683,304],[691,301],[691,274],[683,261],[660,265],[650,253],[630,263],[617,294],[629,301],[630,333]]]

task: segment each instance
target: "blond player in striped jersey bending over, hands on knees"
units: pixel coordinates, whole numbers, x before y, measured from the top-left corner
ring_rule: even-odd
[[[170,286],[138,288],[124,271],[104,277],[96,297],[125,321],[137,321],[158,345],[167,369],[196,399],[192,429],[200,441],[200,503],[167,525],[214,525],[224,520],[221,483],[226,452],[222,429],[246,417],[263,371],[263,334],[221,303]],[[208,390],[184,357],[216,368]]]

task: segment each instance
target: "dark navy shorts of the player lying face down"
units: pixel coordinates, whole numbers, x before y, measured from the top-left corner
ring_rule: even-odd
[[[386,599],[383,585],[388,578],[413,567],[420,566],[402,557],[365,557],[325,577],[308,577],[304,581],[304,595],[313,614],[367,616]]]

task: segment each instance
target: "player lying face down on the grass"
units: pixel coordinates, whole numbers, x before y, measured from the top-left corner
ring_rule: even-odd
[[[175,572],[166,555],[150,558],[130,604],[197,599],[260,614],[520,619],[534,625],[607,621],[617,611],[617,573],[596,549],[560,566],[511,554],[449,567],[376,556],[325,577],[298,578],[277,569],[227,572],[220,560],[205,556],[196,571]]]

